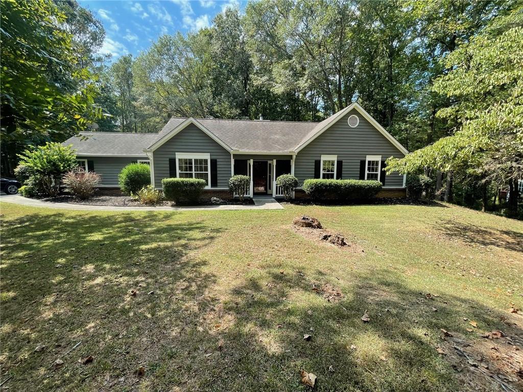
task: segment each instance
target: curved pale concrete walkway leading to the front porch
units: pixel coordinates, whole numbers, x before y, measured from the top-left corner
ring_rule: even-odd
[[[207,210],[283,210],[283,207],[275,199],[253,199],[254,205],[204,205],[200,207],[120,207],[112,205],[88,205],[88,204],[70,204],[70,203],[53,203],[37,199],[28,199],[19,194],[0,196],[0,201],[7,203],[28,205],[31,207],[46,207],[59,210],[81,210],[81,211],[207,211]]]

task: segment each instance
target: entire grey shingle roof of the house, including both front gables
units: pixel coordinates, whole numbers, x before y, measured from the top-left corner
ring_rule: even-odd
[[[403,154],[408,151],[358,103],[334,113],[322,122],[222,120],[171,118],[159,133],[81,132],[63,145],[72,144],[77,155],[146,156],[188,125],[194,124],[230,152],[296,154],[351,110],[356,110]]]

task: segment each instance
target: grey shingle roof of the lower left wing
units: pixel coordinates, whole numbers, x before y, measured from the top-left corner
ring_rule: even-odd
[[[157,138],[157,133],[80,132],[62,145],[72,144],[78,156],[146,157],[143,149]]]

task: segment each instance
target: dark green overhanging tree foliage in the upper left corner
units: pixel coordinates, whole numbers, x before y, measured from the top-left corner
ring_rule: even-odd
[[[4,142],[69,137],[101,116],[97,87],[77,67],[66,16],[50,0],[2,2],[1,134]]]

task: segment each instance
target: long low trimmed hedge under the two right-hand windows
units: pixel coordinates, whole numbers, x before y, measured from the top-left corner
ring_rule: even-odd
[[[303,190],[314,200],[356,201],[369,200],[381,190],[374,180],[305,180]]]

